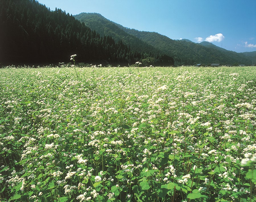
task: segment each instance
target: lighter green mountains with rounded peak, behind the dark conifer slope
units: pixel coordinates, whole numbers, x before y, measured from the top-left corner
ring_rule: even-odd
[[[145,32],[126,28],[112,22],[96,13],[81,13],[74,16],[84,22],[92,30],[102,35],[112,36],[113,39],[122,40],[133,48],[134,41],[140,39],[154,48],[163,51],[174,58],[175,65],[193,65],[197,63],[209,65],[220,64],[246,64],[251,65],[252,60],[247,55],[228,51],[209,42],[194,43],[188,39],[173,40],[157,32]],[[136,37],[136,38],[132,38]],[[139,41],[137,44],[142,44]]]

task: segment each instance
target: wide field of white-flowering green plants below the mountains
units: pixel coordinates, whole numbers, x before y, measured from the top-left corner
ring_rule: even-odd
[[[255,67],[0,78],[1,201],[255,201]]]

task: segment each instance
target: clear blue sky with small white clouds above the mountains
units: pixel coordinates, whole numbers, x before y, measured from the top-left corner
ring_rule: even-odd
[[[38,0],[69,14],[100,13],[171,39],[209,41],[227,50],[256,51],[256,0]]]

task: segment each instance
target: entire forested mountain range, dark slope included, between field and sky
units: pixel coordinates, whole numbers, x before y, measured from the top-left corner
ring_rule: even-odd
[[[69,62],[127,65],[256,63],[256,52],[236,53],[202,42],[172,40],[125,28],[100,14],[50,11],[35,0],[0,0],[0,64]]]

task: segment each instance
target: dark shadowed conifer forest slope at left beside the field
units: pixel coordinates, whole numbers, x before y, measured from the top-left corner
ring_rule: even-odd
[[[70,55],[84,63],[168,66],[170,55],[144,43],[131,46],[100,35],[61,9],[50,11],[35,0],[0,0],[0,63],[67,63]],[[138,39],[139,40],[139,39]]]

